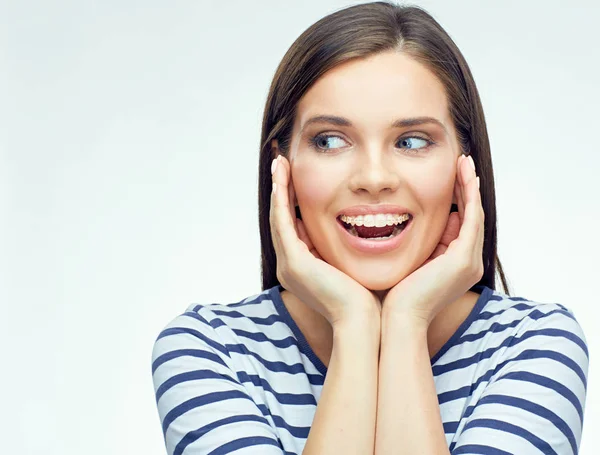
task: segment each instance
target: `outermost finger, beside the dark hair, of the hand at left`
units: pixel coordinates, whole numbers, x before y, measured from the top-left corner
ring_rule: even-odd
[[[294,222],[290,216],[290,203],[288,198],[288,176],[282,165],[285,160],[281,155],[278,157],[278,164],[273,174],[273,187],[276,191],[271,192],[271,213],[270,225],[271,236],[276,252],[283,255],[286,260],[295,254],[297,248],[296,230]]]

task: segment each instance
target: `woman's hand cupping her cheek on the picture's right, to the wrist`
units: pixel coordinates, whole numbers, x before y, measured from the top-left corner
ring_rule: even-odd
[[[458,213],[450,213],[439,244],[423,265],[388,291],[382,316],[393,313],[427,328],[444,306],[483,276],[484,211],[472,163],[462,154],[458,158]]]

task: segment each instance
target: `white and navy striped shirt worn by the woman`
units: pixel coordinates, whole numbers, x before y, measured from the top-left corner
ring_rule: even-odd
[[[573,312],[485,286],[431,359],[451,454],[577,454],[589,354]],[[327,368],[280,286],[192,304],[152,350],[169,455],[301,454]]]

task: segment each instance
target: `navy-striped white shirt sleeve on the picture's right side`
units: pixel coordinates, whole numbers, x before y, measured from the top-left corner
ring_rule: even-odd
[[[578,453],[589,354],[573,313],[556,308],[532,311],[533,322],[505,340],[489,384],[465,411],[452,455]]]

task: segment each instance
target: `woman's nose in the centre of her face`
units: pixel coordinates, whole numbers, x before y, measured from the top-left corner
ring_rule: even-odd
[[[354,172],[350,179],[350,188],[354,192],[368,192],[373,196],[383,191],[396,191],[400,176],[393,165],[393,158],[381,150],[359,153]]]

